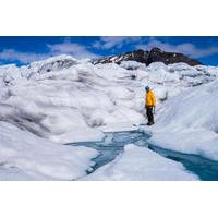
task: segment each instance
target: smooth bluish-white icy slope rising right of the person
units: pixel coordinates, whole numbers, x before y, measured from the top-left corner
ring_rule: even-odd
[[[218,81],[169,99],[158,111],[152,142],[218,160]]]

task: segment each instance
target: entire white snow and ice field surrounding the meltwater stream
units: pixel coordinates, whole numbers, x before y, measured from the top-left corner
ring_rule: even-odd
[[[21,68],[2,65],[0,180],[198,179],[181,162],[129,142],[110,162],[85,177],[99,150],[65,144],[140,130],[149,133],[148,142],[157,147],[217,161],[217,75],[214,66],[146,66],[134,61],[94,65],[70,56]],[[140,126],[145,122],[146,85],[157,97],[152,128]]]

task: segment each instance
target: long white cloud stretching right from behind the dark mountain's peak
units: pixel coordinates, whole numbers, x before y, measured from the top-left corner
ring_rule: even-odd
[[[155,38],[150,38],[150,40],[145,45],[138,45],[137,48],[144,50],[150,50],[154,47],[158,47],[165,51],[171,52],[180,52],[187,55],[192,58],[203,58],[218,53],[218,47],[210,47],[205,49],[199,49],[193,44],[180,44],[180,45],[172,45],[168,43],[162,43],[160,40],[156,40]]]

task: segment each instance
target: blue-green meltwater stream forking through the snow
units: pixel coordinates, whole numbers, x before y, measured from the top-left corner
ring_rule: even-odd
[[[126,144],[135,144],[138,146],[146,146],[159,155],[183,164],[187,171],[198,175],[201,180],[218,181],[218,161],[213,161],[201,156],[182,154],[169,149],[164,149],[155,145],[148,144],[149,135],[138,132],[116,132],[107,133],[104,141],[100,142],[83,142],[72,143],[73,146],[86,146],[95,148],[99,155],[93,159],[95,166],[87,173],[94,172],[99,167],[112,161]]]

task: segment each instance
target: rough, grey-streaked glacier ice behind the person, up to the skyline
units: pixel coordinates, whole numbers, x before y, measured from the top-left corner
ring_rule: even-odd
[[[39,136],[64,142],[63,135],[69,137],[75,130],[116,130],[122,123],[132,129],[145,122],[145,85],[154,89],[161,108],[162,102],[192,85],[215,77],[214,68],[184,63],[145,66],[133,61],[94,65],[69,56],[22,68],[5,65],[0,68],[0,118]]]

